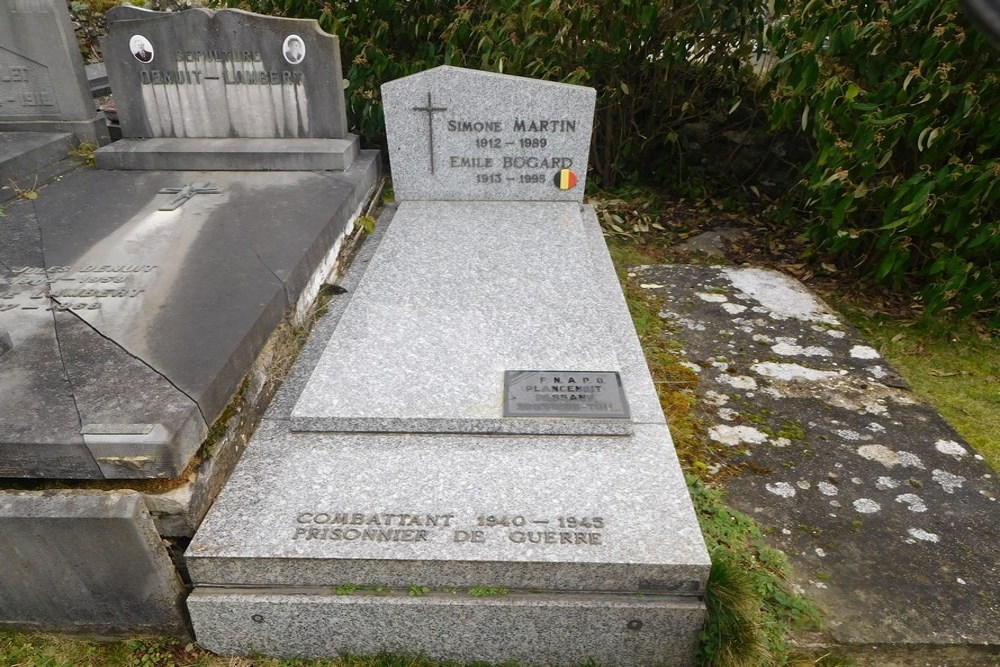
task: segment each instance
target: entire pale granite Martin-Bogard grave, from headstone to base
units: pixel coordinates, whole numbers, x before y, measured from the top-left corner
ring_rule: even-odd
[[[383,86],[398,207],[188,547],[202,645],[691,664],[709,558],[581,203],[594,99]]]

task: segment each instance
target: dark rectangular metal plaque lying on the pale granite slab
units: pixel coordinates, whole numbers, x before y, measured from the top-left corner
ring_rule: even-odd
[[[628,419],[615,371],[504,371],[504,417]]]

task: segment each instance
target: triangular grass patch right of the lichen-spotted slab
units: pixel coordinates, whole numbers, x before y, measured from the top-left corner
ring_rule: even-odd
[[[972,321],[912,321],[838,308],[987,463],[1000,472],[1000,339]]]

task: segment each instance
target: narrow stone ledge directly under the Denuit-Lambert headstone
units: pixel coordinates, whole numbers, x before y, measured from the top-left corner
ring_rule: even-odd
[[[358,155],[346,139],[122,139],[95,151],[100,169],[344,171]]]

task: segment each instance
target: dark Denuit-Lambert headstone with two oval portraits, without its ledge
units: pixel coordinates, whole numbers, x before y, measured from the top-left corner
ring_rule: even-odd
[[[315,20],[134,7],[107,17],[123,137],[347,137],[339,42]],[[301,56],[286,53],[293,43]]]

